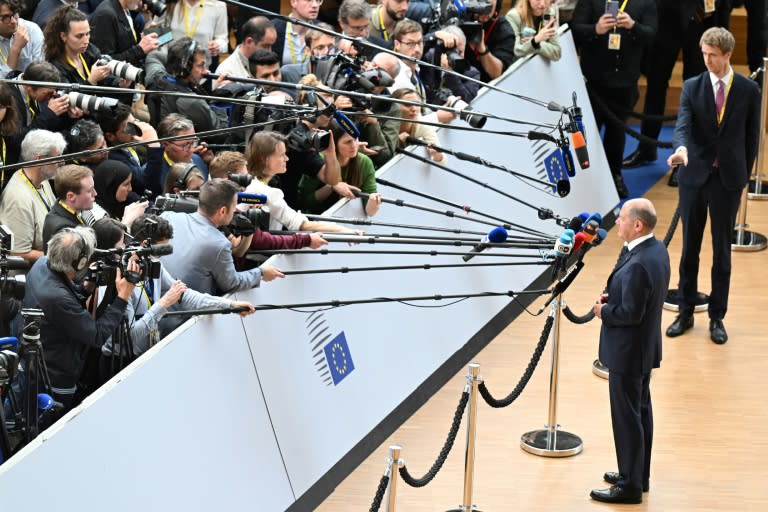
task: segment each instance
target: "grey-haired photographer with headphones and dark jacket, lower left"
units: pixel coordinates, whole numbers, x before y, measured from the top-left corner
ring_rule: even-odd
[[[77,405],[91,390],[78,389],[88,348],[101,350],[123,317],[134,285],[120,269],[116,272],[116,295],[94,320],[85,307],[85,297],[76,282],[88,269],[96,237],[90,228],[67,228],[51,238],[48,255],[33,265],[27,274],[25,308],[41,309],[44,318],[40,339],[50,374],[54,398],[64,405],[64,412]],[[128,265],[136,271],[135,262]]]

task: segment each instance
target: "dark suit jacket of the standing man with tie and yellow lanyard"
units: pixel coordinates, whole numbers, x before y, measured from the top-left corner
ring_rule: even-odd
[[[689,78],[680,96],[674,145],[688,148],[688,165],[680,166],[682,186],[700,187],[717,158],[726,190],[741,190],[749,181],[760,138],[760,91],[752,80],[735,74],[718,126],[715,93],[709,73]]]

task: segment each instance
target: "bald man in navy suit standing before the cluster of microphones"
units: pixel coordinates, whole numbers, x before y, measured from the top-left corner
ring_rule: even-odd
[[[653,443],[651,369],[661,363],[661,311],[669,286],[669,255],[653,236],[656,211],[647,199],[627,201],[616,220],[627,252],[608,278],[608,294],[593,307],[603,322],[600,360],[610,373],[613,440],[619,471],[609,489],[590,496],[608,503],[641,503],[648,490]]]

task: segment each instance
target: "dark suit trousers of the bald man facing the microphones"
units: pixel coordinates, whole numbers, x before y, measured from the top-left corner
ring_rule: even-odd
[[[617,485],[642,492],[651,474],[653,407],[651,374],[608,374],[613,442],[621,480]]]

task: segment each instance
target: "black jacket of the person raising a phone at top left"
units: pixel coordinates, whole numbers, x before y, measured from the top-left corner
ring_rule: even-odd
[[[104,0],[91,14],[91,42],[101,53],[141,67],[145,55],[137,41],[141,40],[144,17],[137,12],[131,13],[131,18],[135,31],[128,24],[120,2]]]

